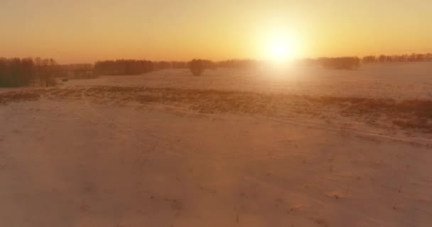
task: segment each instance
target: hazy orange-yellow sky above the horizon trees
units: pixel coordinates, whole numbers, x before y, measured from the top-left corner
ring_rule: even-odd
[[[0,0],[0,56],[58,62],[432,52],[431,0]]]

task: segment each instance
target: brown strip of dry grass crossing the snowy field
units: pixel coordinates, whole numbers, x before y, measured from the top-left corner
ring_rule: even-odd
[[[83,87],[69,89],[33,89],[0,94],[0,104],[12,101],[48,99],[81,99],[91,101],[137,101],[141,104],[184,104],[205,114],[261,114],[289,116],[303,114],[311,117],[334,112],[358,118],[385,118],[405,130],[432,133],[432,101],[372,99],[338,96],[299,96],[257,92],[220,91],[213,89],[172,89],[145,87]]]

